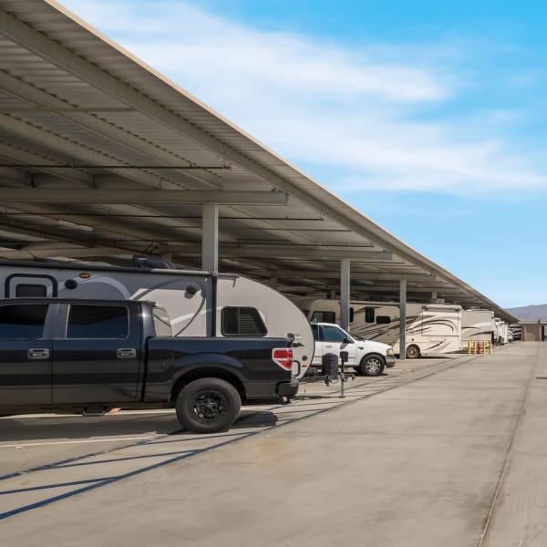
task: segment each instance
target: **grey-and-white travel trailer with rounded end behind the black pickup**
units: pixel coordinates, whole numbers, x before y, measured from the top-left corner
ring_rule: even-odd
[[[297,377],[314,356],[314,335],[303,313],[283,294],[242,275],[0,261],[0,297],[25,296],[153,301],[166,309],[176,336],[293,335]]]

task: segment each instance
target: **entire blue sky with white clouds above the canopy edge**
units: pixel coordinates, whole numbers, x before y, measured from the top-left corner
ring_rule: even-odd
[[[498,304],[547,302],[547,4],[62,4]]]

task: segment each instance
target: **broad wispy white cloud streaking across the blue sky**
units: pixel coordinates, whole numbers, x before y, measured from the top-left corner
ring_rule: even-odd
[[[400,45],[258,31],[175,0],[64,3],[336,191],[547,186],[499,130],[518,121],[511,112],[421,118],[472,85],[449,71],[450,54],[441,67],[416,48],[410,60]]]

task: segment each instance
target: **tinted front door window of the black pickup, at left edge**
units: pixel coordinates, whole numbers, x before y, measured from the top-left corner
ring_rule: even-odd
[[[20,340],[44,335],[47,304],[0,306],[0,338]]]

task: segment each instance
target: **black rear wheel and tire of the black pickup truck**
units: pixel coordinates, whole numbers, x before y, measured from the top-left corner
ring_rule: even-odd
[[[181,389],[177,418],[191,433],[217,433],[230,428],[242,399],[237,389],[220,378],[200,378]]]

